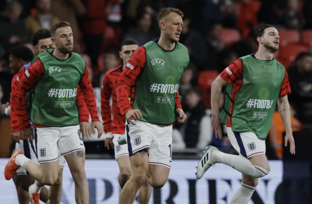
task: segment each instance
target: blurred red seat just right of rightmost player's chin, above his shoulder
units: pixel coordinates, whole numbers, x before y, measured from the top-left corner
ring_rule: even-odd
[[[309,48],[302,43],[292,43],[280,48],[279,58],[284,66],[289,67],[300,52],[307,52]]]

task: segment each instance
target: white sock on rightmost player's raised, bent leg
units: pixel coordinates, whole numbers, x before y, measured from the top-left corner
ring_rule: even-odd
[[[237,171],[252,176],[254,178],[264,177],[269,174],[269,172],[257,165],[253,165],[248,159],[233,155],[233,154],[225,154],[220,151],[215,151],[213,153],[213,161],[215,163],[224,163],[227,164]]]

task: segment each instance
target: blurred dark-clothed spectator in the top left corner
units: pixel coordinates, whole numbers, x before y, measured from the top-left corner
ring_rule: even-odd
[[[29,39],[24,20],[20,20],[22,9],[18,0],[11,0],[0,16],[0,44],[6,51]]]

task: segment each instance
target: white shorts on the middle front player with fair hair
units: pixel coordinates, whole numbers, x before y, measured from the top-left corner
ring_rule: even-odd
[[[136,125],[127,122],[127,145],[129,156],[150,148],[149,163],[171,168],[172,125],[157,125],[136,121]]]

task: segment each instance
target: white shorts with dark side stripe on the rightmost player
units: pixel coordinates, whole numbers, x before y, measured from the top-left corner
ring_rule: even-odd
[[[234,149],[247,159],[265,154],[265,140],[258,138],[253,132],[233,132],[231,127],[226,127],[229,140]]]

